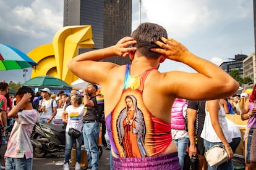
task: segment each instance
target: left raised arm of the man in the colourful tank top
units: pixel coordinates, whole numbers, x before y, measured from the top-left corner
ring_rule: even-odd
[[[124,37],[114,46],[77,55],[77,57],[69,61],[69,70],[90,83],[99,83],[102,79],[108,78],[108,71],[117,65],[98,61],[116,55],[127,57],[130,52],[136,51],[136,47],[129,47],[135,43],[136,41],[133,38]]]

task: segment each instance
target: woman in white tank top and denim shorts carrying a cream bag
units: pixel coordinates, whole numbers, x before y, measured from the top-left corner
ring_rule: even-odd
[[[233,169],[233,151],[229,145],[232,141],[228,132],[228,125],[226,122],[226,113],[220,100],[209,100],[205,103],[205,123],[203,124],[203,131],[201,137],[204,139],[206,151],[213,145],[223,145],[229,156],[229,161],[220,164],[219,166],[211,167],[208,164],[208,169]]]

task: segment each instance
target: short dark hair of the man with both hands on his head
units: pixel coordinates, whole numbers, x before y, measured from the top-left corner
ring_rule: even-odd
[[[151,48],[161,48],[154,41],[161,41],[161,37],[168,38],[166,30],[163,26],[155,23],[142,23],[133,31],[132,38],[137,41],[135,47],[140,54],[150,58],[158,58],[161,54],[150,51]]]

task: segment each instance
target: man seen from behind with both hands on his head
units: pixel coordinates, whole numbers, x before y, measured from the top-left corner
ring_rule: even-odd
[[[116,55],[130,57],[132,63],[99,62]],[[197,73],[160,73],[157,68],[166,59],[182,62]],[[220,99],[233,95],[239,87],[221,68],[168,38],[166,30],[154,23],[142,23],[132,36],[111,47],[74,57],[68,67],[79,78],[99,84],[104,91],[114,169],[180,169],[170,133],[174,99]],[[127,96],[134,99],[134,111],[122,114]]]

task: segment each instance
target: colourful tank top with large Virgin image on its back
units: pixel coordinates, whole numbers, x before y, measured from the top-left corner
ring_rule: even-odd
[[[114,157],[157,156],[171,144],[171,125],[153,116],[142,98],[145,79],[155,69],[151,68],[134,77],[130,75],[130,65],[126,67],[121,99],[106,117]]]

